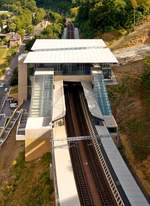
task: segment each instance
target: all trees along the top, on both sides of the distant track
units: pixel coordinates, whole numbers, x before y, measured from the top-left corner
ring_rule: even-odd
[[[14,15],[13,18],[4,15],[0,25],[5,19],[7,30],[18,31],[21,35],[32,33],[33,25],[46,17],[52,18],[54,24],[45,29],[43,36],[58,38],[64,23],[62,15],[70,11],[81,33],[85,37],[95,37],[99,32],[132,28],[149,14],[150,0],[1,0],[0,8]],[[59,19],[56,24],[54,16]]]

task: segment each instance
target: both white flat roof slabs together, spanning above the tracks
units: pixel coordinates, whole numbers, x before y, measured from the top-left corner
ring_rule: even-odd
[[[118,63],[101,39],[37,40],[25,63]]]

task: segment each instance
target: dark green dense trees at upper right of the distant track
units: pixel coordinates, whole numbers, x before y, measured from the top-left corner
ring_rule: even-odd
[[[150,0],[73,0],[76,23],[86,37],[96,32],[129,29],[149,13]]]

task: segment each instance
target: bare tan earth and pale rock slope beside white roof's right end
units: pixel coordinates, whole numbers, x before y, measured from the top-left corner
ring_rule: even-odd
[[[134,31],[113,41],[110,45],[120,64],[142,60],[150,54],[150,16]]]

